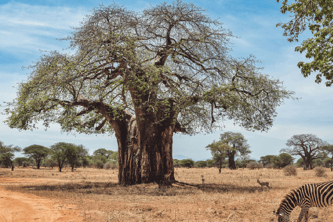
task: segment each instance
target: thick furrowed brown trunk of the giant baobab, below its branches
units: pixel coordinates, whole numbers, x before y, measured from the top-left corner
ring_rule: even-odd
[[[127,127],[125,127],[127,125]],[[135,117],[117,124],[119,183],[171,183],[173,175],[172,137],[174,127],[150,125],[139,130]]]

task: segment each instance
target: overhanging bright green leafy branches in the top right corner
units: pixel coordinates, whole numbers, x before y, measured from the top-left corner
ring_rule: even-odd
[[[298,36],[309,28],[314,37],[304,40],[301,46],[296,46],[295,51],[300,53],[306,51],[305,57],[313,58],[313,60],[298,62],[298,67],[305,77],[309,76],[311,72],[318,71],[316,83],[321,83],[324,76],[327,80],[325,83],[327,87],[333,83],[332,4],[332,0],[296,0],[290,4],[288,4],[288,0],[283,0],[281,12],[283,14],[290,12],[293,19],[286,24],[276,25],[284,28],[283,35],[288,36],[289,42],[298,42]]]

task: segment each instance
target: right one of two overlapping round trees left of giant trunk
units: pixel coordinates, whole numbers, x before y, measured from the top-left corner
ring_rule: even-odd
[[[85,155],[88,155],[87,149],[83,145],[67,144],[66,146],[66,160],[71,166],[71,171],[74,171],[75,165],[80,164],[80,160]]]

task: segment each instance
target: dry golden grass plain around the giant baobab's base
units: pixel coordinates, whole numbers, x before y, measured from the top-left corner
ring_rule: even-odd
[[[277,221],[273,210],[291,190],[318,178],[314,171],[298,169],[298,176],[284,176],[278,169],[175,169],[176,180],[205,188],[156,184],[117,185],[117,170],[105,169],[0,169],[0,186],[76,205],[85,221]],[[269,182],[264,191],[257,183]],[[300,212],[293,211],[291,221]],[[333,209],[310,208],[309,222],[333,221]]]

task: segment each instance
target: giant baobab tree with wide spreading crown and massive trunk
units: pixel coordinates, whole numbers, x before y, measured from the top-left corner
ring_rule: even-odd
[[[253,56],[232,58],[230,37],[191,3],[100,6],[65,38],[76,53],[52,51],[31,65],[6,123],[114,133],[121,184],[172,182],[173,133],[210,132],[223,119],[268,130],[293,94],[261,74]]]

